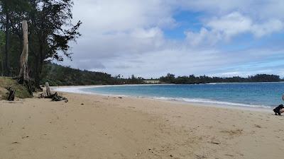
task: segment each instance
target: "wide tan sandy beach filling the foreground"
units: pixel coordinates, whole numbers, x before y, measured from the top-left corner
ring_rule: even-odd
[[[0,158],[284,158],[284,117],[63,93],[0,101]]]

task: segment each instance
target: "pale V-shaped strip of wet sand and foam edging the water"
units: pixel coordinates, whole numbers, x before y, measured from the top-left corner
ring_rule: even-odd
[[[158,100],[163,102],[173,102],[180,103],[182,105],[197,105],[201,107],[221,107],[221,108],[229,108],[236,110],[250,110],[257,112],[271,112],[272,107],[261,106],[261,105],[246,105],[241,103],[233,103],[233,102],[219,102],[219,101],[185,101],[185,100],[176,100],[177,98],[164,98],[164,97],[146,97],[146,96],[135,96],[135,95],[114,95],[114,94],[103,94],[103,93],[94,93],[80,90],[82,88],[99,88],[99,87],[116,87],[116,86],[156,86],[157,84],[141,84],[141,85],[99,85],[99,86],[52,86],[50,87],[53,91],[58,91],[62,93],[80,93],[87,95],[102,95],[102,96],[111,96],[111,97],[125,97],[125,98],[142,98],[148,100]],[[160,85],[169,85],[169,84],[160,84]],[[171,84],[170,84],[171,85]],[[229,103],[229,104],[228,104]]]

